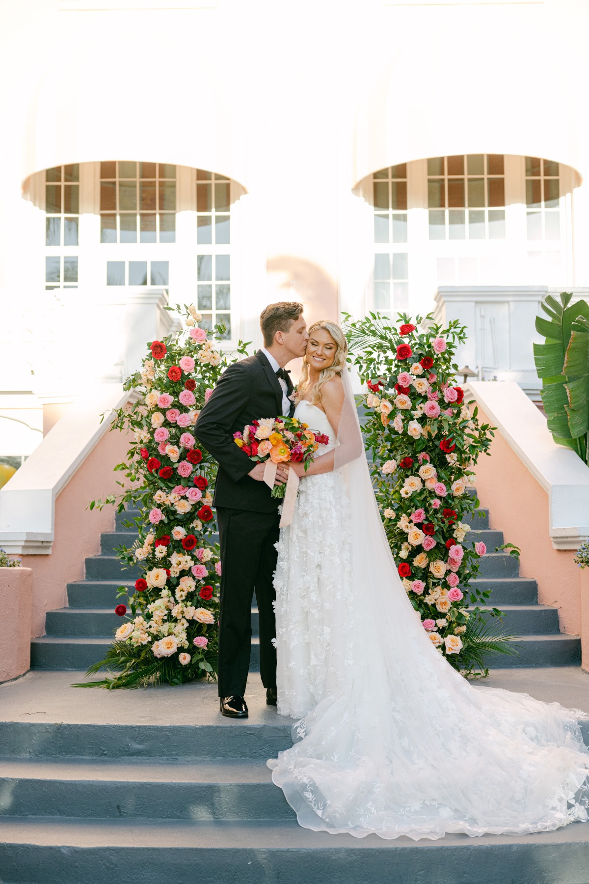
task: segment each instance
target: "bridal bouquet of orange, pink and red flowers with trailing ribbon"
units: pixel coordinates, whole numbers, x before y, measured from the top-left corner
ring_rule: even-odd
[[[319,446],[328,445],[329,437],[309,430],[308,424],[296,417],[261,417],[247,424],[243,432],[233,433],[233,441],[245,451],[250,461],[276,466],[279,463],[304,463],[308,469]],[[276,469],[273,472],[276,474]],[[266,476],[264,479],[267,481]],[[283,498],[286,486],[286,482],[275,485],[272,476],[272,497]]]

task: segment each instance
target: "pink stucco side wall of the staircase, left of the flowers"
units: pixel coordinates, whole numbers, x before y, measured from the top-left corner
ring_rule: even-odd
[[[104,433],[56,500],[55,541],[50,555],[25,555],[33,570],[31,637],[45,633],[45,612],[67,604],[66,583],[84,577],[87,555],[100,552],[101,531],[115,525],[115,508],[90,512],[90,500],[120,492],[122,473],[113,467],[123,460],[129,439],[119,431]]]

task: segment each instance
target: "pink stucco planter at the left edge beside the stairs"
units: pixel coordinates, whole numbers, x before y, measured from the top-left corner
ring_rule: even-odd
[[[22,675],[31,665],[31,568],[0,568],[0,611],[4,642],[0,645],[0,682]]]

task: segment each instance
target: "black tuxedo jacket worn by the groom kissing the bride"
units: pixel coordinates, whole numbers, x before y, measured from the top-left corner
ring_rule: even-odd
[[[288,395],[292,384],[289,377]],[[291,407],[291,413],[293,407]],[[283,414],[283,388],[266,356],[259,350],[223,371],[215,390],[199,415],[194,433],[219,464],[215,507],[233,507],[254,513],[271,513],[280,501],[270,496],[264,482],[247,474],[253,469],[245,452],[233,441],[246,423]]]

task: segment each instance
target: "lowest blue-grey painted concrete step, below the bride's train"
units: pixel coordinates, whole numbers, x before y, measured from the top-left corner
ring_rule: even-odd
[[[291,820],[0,820],[11,884],[583,884],[589,833],[577,823],[526,835],[384,841],[311,832]]]

